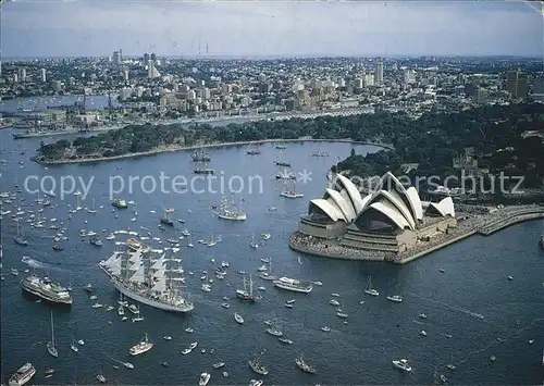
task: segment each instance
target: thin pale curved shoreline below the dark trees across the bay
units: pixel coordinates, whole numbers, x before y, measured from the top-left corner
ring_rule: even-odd
[[[150,151],[144,151],[144,152],[138,152],[138,153],[128,153],[128,154],[121,154],[121,155],[113,155],[113,157],[100,157],[100,158],[82,158],[82,159],[74,159],[74,160],[54,160],[54,161],[44,161],[44,160],[38,160],[36,158],[33,159],[33,161],[42,164],[42,165],[63,165],[63,164],[70,164],[70,163],[87,163],[87,162],[103,162],[103,161],[114,161],[114,160],[121,160],[121,159],[127,159],[127,158],[136,158],[136,157],[146,157],[146,155],[156,155],[156,154],[161,154],[161,153],[169,153],[169,152],[177,152],[177,151],[190,151],[190,150],[198,150],[198,149],[205,149],[205,148],[223,148],[223,147],[236,147],[236,146],[247,146],[247,145],[262,145],[262,144],[273,144],[273,142],[343,142],[343,144],[351,144],[351,145],[368,145],[368,146],[375,146],[380,147],[386,150],[392,150],[393,147],[391,145],[386,144],[374,144],[374,142],[361,142],[361,141],[355,141],[351,139],[307,139],[307,138],[296,138],[296,139],[259,139],[259,140],[251,140],[251,141],[240,141],[240,142],[222,142],[222,144],[207,144],[207,145],[194,145],[194,146],[165,146],[156,150],[150,150]]]

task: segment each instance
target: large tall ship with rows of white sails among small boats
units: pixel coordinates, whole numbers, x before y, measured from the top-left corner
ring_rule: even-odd
[[[185,288],[180,259],[166,259],[165,254],[143,247],[114,252],[99,263],[113,286],[124,296],[140,303],[171,312],[189,312],[195,306],[182,295]]]

